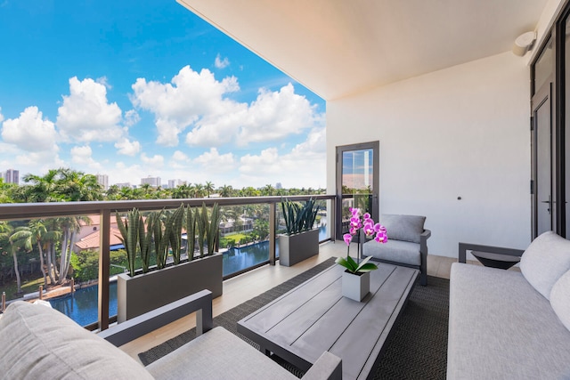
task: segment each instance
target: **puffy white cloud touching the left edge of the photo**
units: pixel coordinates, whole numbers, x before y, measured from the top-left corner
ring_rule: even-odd
[[[20,150],[32,152],[57,151],[55,126],[37,107],[28,107],[20,117],[7,119],[2,127],[4,142],[16,145]]]

